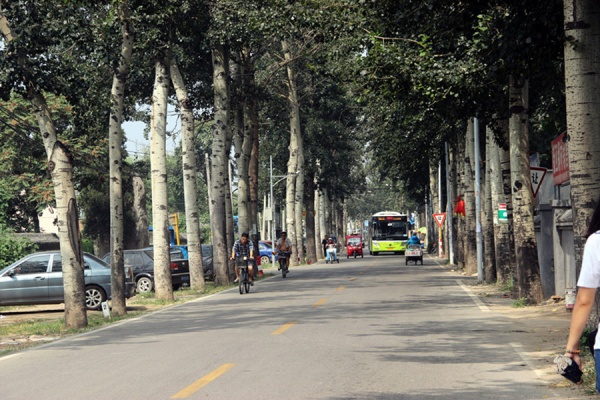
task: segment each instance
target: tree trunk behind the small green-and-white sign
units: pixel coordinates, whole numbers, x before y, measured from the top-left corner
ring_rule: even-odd
[[[503,132],[508,131],[508,121],[502,121]],[[510,224],[512,219],[512,202],[510,201],[510,185],[504,183],[504,176],[510,177],[510,157],[507,150],[496,143],[490,145],[490,186],[492,191],[492,207],[494,207],[494,254],[496,263],[496,282],[505,284],[511,280],[514,248]],[[501,222],[496,208],[500,204],[506,206],[509,217]],[[510,213],[509,213],[510,210]]]

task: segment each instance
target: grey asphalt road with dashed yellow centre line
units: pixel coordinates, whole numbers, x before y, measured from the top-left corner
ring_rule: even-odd
[[[0,399],[542,399],[511,325],[426,259],[342,258],[0,359]]]

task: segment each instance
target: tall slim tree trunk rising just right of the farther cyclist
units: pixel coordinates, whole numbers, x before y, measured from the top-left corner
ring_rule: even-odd
[[[292,55],[290,53],[289,44],[286,41],[281,42],[283,49],[286,70],[287,70],[287,88],[288,88],[288,106],[290,113],[290,157],[288,160],[288,170],[286,179],[285,193],[285,222],[286,231],[289,238],[292,239],[292,258],[291,266],[298,265],[298,249],[302,248],[302,240],[298,242],[296,229],[302,230],[302,227],[296,226],[296,179],[303,179],[302,176],[296,176],[298,171],[298,149],[300,146],[300,104],[298,103],[298,95],[296,93],[296,72],[292,64]],[[300,173],[303,175],[303,173]],[[302,237],[302,235],[300,235]]]

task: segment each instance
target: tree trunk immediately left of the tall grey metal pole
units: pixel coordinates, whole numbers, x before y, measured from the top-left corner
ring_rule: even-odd
[[[467,135],[465,141],[464,168],[465,175],[463,180],[464,200],[465,200],[465,272],[467,275],[477,273],[477,243],[475,232],[475,168],[473,165],[474,138],[475,130],[473,120],[469,119],[467,125]]]

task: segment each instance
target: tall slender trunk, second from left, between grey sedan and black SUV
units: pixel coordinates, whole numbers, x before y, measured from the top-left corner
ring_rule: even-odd
[[[111,300],[112,312],[117,315],[127,314],[125,303],[125,267],[123,263],[123,101],[125,83],[129,75],[129,64],[133,52],[133,32],[130,12],[126,3],[119,4],[121,18],[121,57],[119,66],[114,72],[112,90],[110,92],[111,107],[108,126],[108,158],[109,158],[109,197],[110,197],[110,266],[111,266]]]

